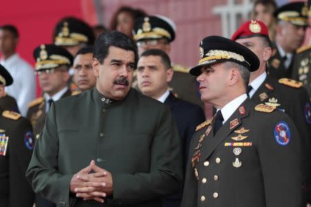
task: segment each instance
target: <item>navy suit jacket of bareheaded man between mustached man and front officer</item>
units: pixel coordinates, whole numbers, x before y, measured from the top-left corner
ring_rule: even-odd
[[[167,104],[173,113],[173,118],[176,121],[178,134],[182,144],[182,160],[184,161],[184,174],[187,166],[189,155],[189,147],[192,135],[196,130],[196,126],[205,121],[205,116],[200,106],[176,98],[171,92],[169,97],[165,99],[164,104]],[[178,207],[182,199],[182,190],[176,195],[171,195],[162,199],[163,207]]]

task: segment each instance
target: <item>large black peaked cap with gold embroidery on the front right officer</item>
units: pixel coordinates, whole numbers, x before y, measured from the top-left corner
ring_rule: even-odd
[[[198,65],[190,69],[191,75],[200,75],[202,66],[225,61],[233,61],[245,66],[250,72],[259,67],[259,59],[252,50],[231,39],[219,36],[209,36],[202,39],[200,42],[200,58]]]

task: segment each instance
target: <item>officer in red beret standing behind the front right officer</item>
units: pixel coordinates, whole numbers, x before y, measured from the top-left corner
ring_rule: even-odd
[[[304,176],[309,177],[310,180],[311,121],[308,92],[302,87],[301,82],[286,78],[272,79],[265,72],[272,49],[268,29],[263,22],[246,21],[234,32],[232,40],[252,50],[261,63],[258,70],[250,73],[249,86],[247,86],[250,99],[255,103],[276,106],[294,121],[304,147],[302,151],[303,166],[306,168]]]

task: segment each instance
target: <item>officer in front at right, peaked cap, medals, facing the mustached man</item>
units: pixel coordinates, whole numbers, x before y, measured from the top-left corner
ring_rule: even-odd
[[[301,146],[292,120],[275,106],[247,98],[249,72],[260,61],[230,39],[200,43],[191,68],[201,99],[217,108],[196,128],[182,206],[302,206]]]

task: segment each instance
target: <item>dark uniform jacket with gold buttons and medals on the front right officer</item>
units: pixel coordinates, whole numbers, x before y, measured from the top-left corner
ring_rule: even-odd
[[[296,127],[284,112],[254,108],[246,99],[216,135],[214,121],[194,134],[183,207],[303,206]]]

